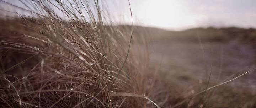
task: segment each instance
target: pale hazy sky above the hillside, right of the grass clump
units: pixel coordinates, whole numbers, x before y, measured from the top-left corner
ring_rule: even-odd
[[[18,2],[18,0],[4,1],[14,4]],[[256,28],[256,0],[130,0],[130,2],[135,25],[169,30],[209,26]],[[102,4],[103,8],[108,10],[113,22],[131,23],[128,0],[102,0]]]

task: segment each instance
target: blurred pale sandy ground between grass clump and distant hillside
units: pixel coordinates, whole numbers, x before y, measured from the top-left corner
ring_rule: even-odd
[[[200,43],[198,36],[188,39],[166,35],[155,37],[149,48],[151,66],[161,65],[159,72],[164,73],[163,77],[188,90],[197,82],[207,82],[210,72],[210,85],[213,86],[256,68],[255,48],[237,39],[223,42],[201,40]],[[255,93],[255,72],[225,86],[245,88]]]

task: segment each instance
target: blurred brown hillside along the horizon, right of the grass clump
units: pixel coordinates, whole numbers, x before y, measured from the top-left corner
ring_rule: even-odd
[[[130,25],[125,25],[129,31]],[[197,41],[198,37],[202,41],[207,42],[223,42],[230,40],[237,40],[244,44],[256,45],[256,29],[254,28],[192,28],[184,31],[167,31],[160,28],[133,26],[134,38],[141,32],[145,32],[148,36],[152,37],[154,41],[168,41],[173,38],[182,38],[182,41]],[[186,39],[184,39],[186,38]]]

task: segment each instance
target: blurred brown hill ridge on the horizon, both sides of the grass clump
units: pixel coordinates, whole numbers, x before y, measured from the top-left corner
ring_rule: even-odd
[[[25,23],[25,22],[31,23]],[[31,26],[32,24],[36,24],[41,22],[40,20],[26,18],[26,19],[13,19],[13,20],[5,20],[0,19],[0,35],[5,34],[15,34],[17,35],[20,31],[28,31],[32,32]],[[17,26],[18,23],[18,26]],[[16,26],[14,26],[16,24]],[[107,27],[107,26],[106,26]],[[123,31],[130,33],[130,25],[119,25],[119,27],[123,27]],[[168,31],[165,29],[154,28],[154,27],[143,27],[143,26],[133,26],[133,39],[139,41],[138,37],[147,36],[152,38],[154,41],[161,42],[169,42],[169,39],[182,38],[182,41],[196,41],[198,42],[198,36],[202,41],[207,42],[222,42],[222,41],[230,41],[230,40],[238,40],[245,44],[256,45],[256,29],[254,28],[236,28],[236,27],[228,27],[228,28],[192,28],[184,31]],[[186,39],[184,39],[186,38]]]

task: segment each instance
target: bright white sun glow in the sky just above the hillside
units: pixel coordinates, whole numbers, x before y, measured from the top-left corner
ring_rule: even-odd
[[[143,0],[137,3],[135,11],[138,22],[166,29],[187,28],[199,18],[191,15],[178,0]]]

